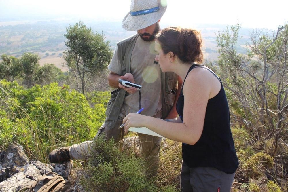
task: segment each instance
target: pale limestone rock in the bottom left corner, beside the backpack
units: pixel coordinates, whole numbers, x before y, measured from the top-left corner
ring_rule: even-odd
[[[26,165],[24,166],[23,172],[16,173],[0,183],[0,186],[2,187],[1,192],[19,191],[24,184],[35,181],[40,176],[40,170],[35,165]]]

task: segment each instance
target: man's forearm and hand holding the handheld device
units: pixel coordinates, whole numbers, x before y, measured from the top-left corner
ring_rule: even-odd
[[[124,76],[121,76],[121,75],[118,75],[117,73],[113,73],[112,71],[109,71],[107,79],[108,79],[108,84],[111,87],[124,89],[129,94],[133,94],[137,91],[137,88],[135,88],[135,87],[125,87],[124,85],[121,85],[118,82],[119,79],[123,79],[123,80],[129,81],[131,83],[135,83],[134,77],[131,73],[126,73]]]

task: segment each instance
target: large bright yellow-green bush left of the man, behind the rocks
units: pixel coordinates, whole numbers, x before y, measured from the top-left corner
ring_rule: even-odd
[[[90,107],[86,97],[68,85],[51,83],[24,90],[16,82],[0,81],[0,88],[1,114],[5,113],[1,146],[18,142],[27,155],[42,162],[56,147],[93,138],[105,119],[104,104]],[[101,92],[97,96],[101,100]]]

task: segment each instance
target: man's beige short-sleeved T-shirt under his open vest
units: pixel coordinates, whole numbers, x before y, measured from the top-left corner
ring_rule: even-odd
[[[132,51],[130,73],[133,74],[135,83],[142,85],[141,107],[144,107],[144,110],[141,114],[160,118],[162,116],[163,99],[161,69],[158,64],[154,64],[155,56],[154,41],[146,42],[138,37]],[[108,65],[108,69],[119,75],[122,73],[117,58],[117,49]],[[125,97],[120,116],[126,116],[130,112],[136,113],[138,110],[139,92],[135,92]]]

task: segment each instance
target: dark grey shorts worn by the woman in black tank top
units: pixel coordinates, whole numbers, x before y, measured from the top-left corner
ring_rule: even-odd
[[[180,187],[183,192],[230,192],[234,176],[212,167],[189,168],[182,161]]]

